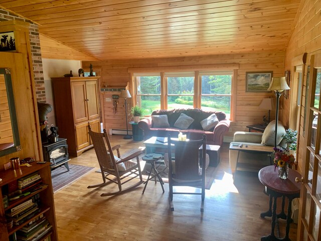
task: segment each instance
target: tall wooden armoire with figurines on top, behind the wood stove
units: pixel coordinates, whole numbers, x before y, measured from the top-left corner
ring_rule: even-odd
[[[100,132],[99,77],[51,78],[58,134],[67,139],[70,156],[92,148],[88,125]]]

